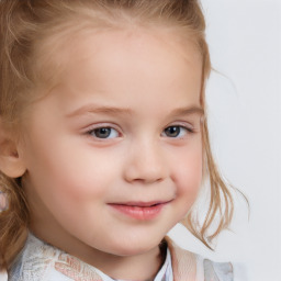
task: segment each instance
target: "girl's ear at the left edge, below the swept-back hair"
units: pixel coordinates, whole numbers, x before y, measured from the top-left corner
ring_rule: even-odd
[[[26,168],[19,155],[19,145],[12,134],[3,128],[0,119],[0,170],[10,178],[24,175]]]

